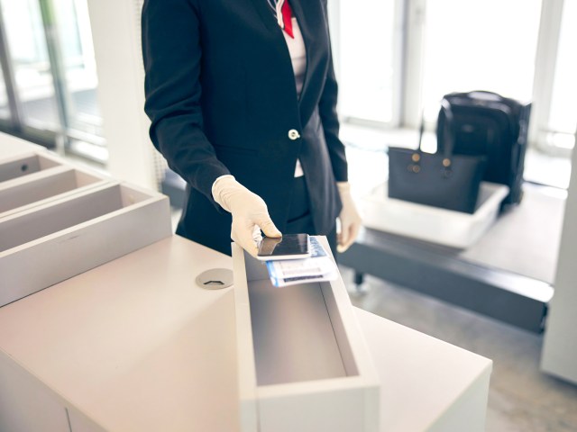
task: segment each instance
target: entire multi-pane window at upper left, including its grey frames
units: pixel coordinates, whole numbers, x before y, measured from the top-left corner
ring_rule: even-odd
[[[0,126],[104,162],[87,0],[0,0],[0,12],[0,119],[10,120]]]

